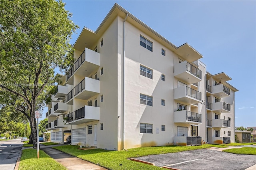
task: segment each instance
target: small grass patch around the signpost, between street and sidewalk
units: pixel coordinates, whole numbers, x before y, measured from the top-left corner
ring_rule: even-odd
[[[62,164],[56,162],[44,151],[39,150],[39,158],[37,158],[36,149],[22,150],[20,158],[19,170],[67,170]]]

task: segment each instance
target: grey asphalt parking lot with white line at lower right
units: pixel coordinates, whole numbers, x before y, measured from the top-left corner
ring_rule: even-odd
[[[181,170],[244,170],[256,164],[256,155],[237,155],[217,150],[199,149],[140,158],[156,166]]]

